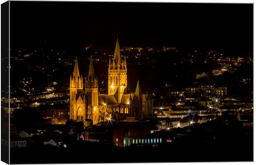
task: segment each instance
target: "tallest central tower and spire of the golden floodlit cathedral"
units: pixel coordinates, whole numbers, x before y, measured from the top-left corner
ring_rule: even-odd
[[[115,95],[120,104],[127,87],[127,67],[126,59],[121,59],[118,39],[116,40],[113,61],[109,59],[108,82],[108,94]]]

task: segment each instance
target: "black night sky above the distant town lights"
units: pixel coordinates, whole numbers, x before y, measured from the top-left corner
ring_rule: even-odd
[[[253,51],[253,4],[11,1],[11,49],[175,46]]]

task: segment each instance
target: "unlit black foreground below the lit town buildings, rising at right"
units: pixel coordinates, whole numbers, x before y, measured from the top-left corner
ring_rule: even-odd
[[[106,146],[74,141],[71,148],[11,148],[11,164],[23,163],[157,163],[253,161],[253,128],[222,126],[159,146]],[[211,138],[213,135],[213,138]],[[204,137],[204,138],[202,138]],[[206,141],[205,141],[206,140]]]

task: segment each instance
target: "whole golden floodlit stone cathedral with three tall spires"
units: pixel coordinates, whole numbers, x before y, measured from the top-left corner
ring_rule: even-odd
[[[107,69],[107,68],[106,68]],[[95,125],[107,120],[126,120],[126,117],[142,118],[152,114],[152,99],[142,94],[139,80],[134,93],[127,93],[127,64],[121,58],[118,39],[114,58],[109,59],[108,94],[98,92],[92,58],[88,75],[83,76],[78,69],[77,58],[73,75],[70,76],[70,119],[74,121],[92,120]]]

